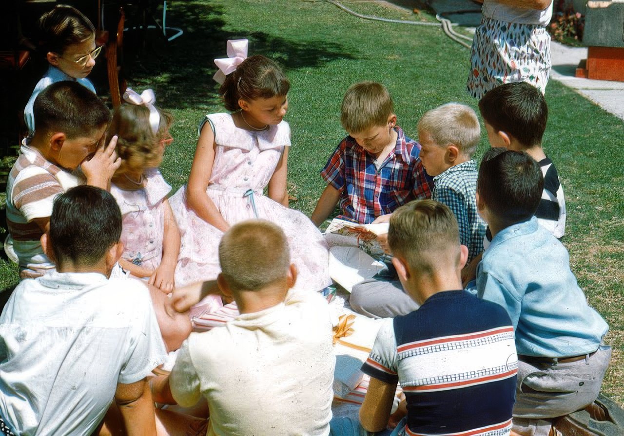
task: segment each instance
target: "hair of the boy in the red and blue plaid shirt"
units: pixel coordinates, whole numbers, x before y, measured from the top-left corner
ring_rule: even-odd
[[[383,126],[394,111],[390,93],[378,82],[359,82],[344,94],[340,122],[348,133],[362,133]]]

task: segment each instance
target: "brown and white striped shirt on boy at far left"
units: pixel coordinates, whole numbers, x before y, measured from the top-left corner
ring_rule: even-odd
[[[6,220],[22,270],[41,275],[54,267],[41,248],[43,232],[34,219],[50,217],[54,198],[78,184],[74,174],[47,161],[37,149],[20,148],[7,182]]]

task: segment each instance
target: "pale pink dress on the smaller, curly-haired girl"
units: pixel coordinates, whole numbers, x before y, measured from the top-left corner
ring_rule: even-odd
[[[122,258],[135,265],[155,270],[162,258],[162,239],[165,229],[163,200],[171,191],[158,169],[148,169],[143,189],[127,191],[115,184],[110,193],[122,214]]]

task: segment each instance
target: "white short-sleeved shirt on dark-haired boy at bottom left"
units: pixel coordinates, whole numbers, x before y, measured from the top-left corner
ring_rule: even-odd
[[[90,435],[117,383],[167,353],[147,288],[99,273],[24,280],[0,317],[0,415],[22,435]]]

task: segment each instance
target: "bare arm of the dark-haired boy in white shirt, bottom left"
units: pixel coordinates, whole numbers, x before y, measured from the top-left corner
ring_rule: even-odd
[[[147,379],[130,384],[117,384],[115,402],[124,419],[128,436],[156,434],[154,401]]]

